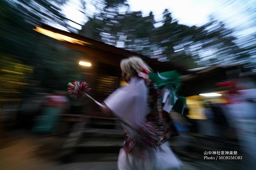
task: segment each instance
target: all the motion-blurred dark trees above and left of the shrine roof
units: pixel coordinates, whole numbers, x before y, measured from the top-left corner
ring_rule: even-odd
[[[40,81],[42,86],[64,89],[74,74],[78,78],[81,70],[76,64],[82,54],[33,31],[40,23],[78,32],[185,69],[230,61],[256,69],[255,33],[238,40],[233,29],[214,18],[199,27],[187,26],[179,24],[165,9],[162,21],[156,22],[152,12],[144,15],[141,11],[130,11],[126,0],[96,0],[93,5],[98,12],[89,16],[88,2],[80,0],[81,12],[88,21],[77,30],[69,25],[71,20],[62,11],[68,2],[0,0],[0,55],[12,56],[15,61],[33,68],[30,78]]]

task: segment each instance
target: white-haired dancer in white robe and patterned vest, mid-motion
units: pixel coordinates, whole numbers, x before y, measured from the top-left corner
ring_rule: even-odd
[[[179,170],[181,161],[174,155],[168,144],[170,119],[162,111],[158,89],[148,78],[151,68],[140,58],[131,57],[121,61],[122,76],[129,85],[117,89],[105,101],[105,113],[113,112],[135,129],[143,122],[152,125],[158,132],[158,142],[151,149],[124,127],[124,146],[118,156],[119,170]],[[170,122],[170,121],[169,121]]]

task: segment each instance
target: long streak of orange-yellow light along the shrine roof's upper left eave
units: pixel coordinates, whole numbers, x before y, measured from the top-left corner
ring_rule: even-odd
[[[84,42],[84,41],[81,41],[81,40],[77,40],[75,38],[71,38],[69,36],[62,35],[62,34],[59,34],[59,33],[53,32],[53,31],[49,31],[47,29],[40,28],[38,26],[36,26],[35,29],[33,29],[33,30],[35,30],[37,32],[40,32],[44,35],[47,35],[49,37],[52,37],[56,40],[60,40],[60,41],[64,41],[64,42],[72,42],[74,44],[80,44],[80,45],[92,45],[91,43]]]

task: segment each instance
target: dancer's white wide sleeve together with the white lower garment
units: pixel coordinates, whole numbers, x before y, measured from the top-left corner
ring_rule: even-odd
[[[132,77],[128,84],[109,95],[104,103],[121,119],[136,127],[140,121],[145,122],[146,119],[147,88],[144,80],[138,77]],[[126,153],[121,148],[117,161],[118,169],[179,170],[182,167],[181,161],[176,158],[168,142],[157,146],[156,150],[152,148],[150,152],[146,149],[140,151],[140,156],[137,151],[136,146],[130,153]]]

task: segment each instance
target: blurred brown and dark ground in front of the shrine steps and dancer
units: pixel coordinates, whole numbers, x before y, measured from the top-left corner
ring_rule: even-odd
[[[51,152],[42,148],[44,140],[31,133],[15,132],[5,136],[0,145],[1,170],[117,170],[118,153],[80,153],[72,161],[63,163],[54,159]],[[53,147],[58,147],[54,142]],[[189,155],[179,156],[184,170],[233,170],[239,169],[231,160],[204,161]]]

